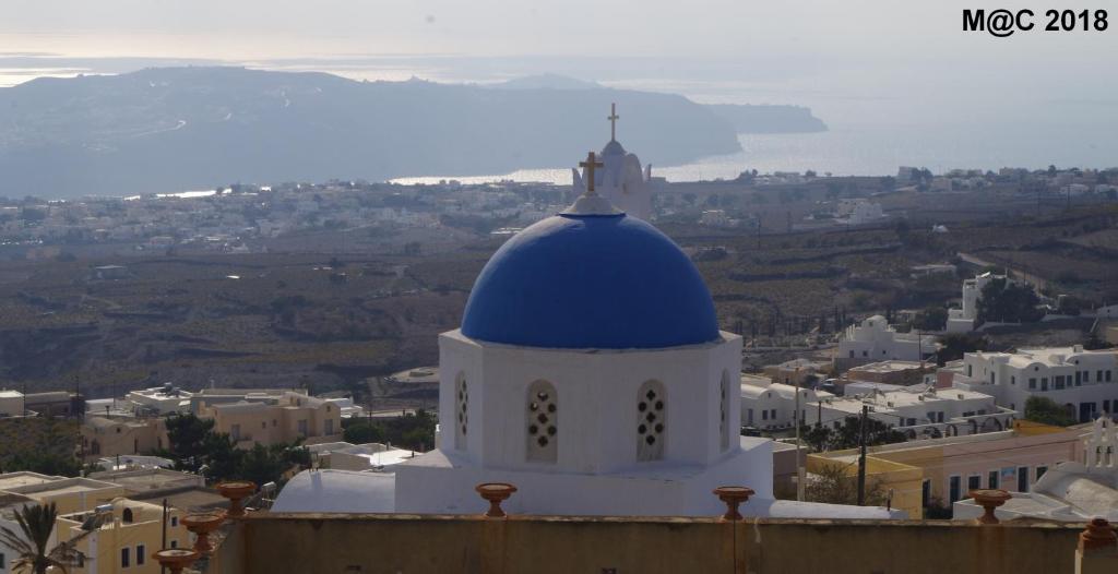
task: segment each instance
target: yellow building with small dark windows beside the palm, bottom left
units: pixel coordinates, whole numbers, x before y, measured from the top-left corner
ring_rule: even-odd
[[[183,513],[168,508],[167,547],[189,547],[191,534],[180,523]],[[160,505],[116,498],[101,509],[58,517],[59,542],[83,534],[83,525],[96,530],[77,543],[85,556],[73,574],[158,574],[151,555],[163,547],[163,508]]]

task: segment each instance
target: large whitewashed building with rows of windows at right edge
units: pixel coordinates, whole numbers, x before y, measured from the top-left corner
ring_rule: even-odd
[[[1024,412],[1030,396],[1046,396],[1080,422],[1118,410],[1118,352],[1071,347],[1021,348],[1016,353],[966,353],[949,365],[956,386],[993,395]]]

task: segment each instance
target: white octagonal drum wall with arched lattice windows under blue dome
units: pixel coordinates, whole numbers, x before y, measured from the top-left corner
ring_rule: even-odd
[[[486,467],[610,472],[636,462],[637,391],[656,380],[666,395],[664,460],[707,463],[723,455],[720,380],[723,373],[737,376],[740,350],[741,338],[729,333],[710,345],[586,352],[477,343],[451,332],[440,336],[440,417],[444,427],[456,423],[456,374],[480,373],[470,386],[470,459]],[[527,457],[525,400],[539,380],[558,393],[555,463]],[[727,414],[735,436],[739,401],[730,393]]]

